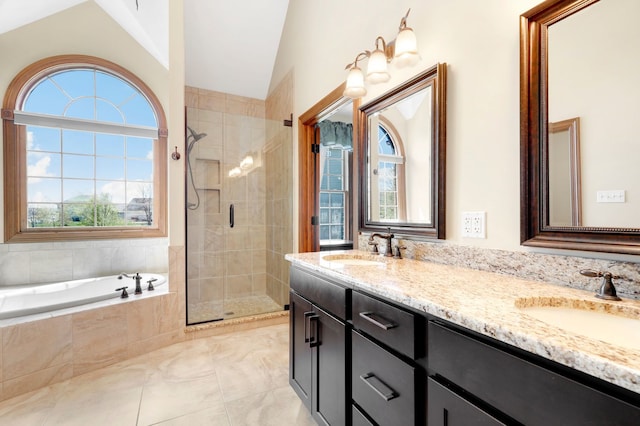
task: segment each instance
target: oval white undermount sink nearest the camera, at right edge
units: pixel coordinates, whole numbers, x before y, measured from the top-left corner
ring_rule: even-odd
[[[640,350],[640,307],[569,298],[516,300],[523,314],[612,345]]]

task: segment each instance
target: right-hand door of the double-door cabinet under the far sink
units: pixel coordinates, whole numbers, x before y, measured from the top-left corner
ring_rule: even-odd
[[[313,409],[319,424],[347,423],[347,384],[345,324],[314,306],[311,318],[313,346]],[[314,322],[317,321],[317,328]],[[317,332],[317,334],[316,334]]]

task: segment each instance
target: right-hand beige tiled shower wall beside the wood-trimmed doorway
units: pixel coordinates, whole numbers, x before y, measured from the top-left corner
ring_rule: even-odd
[[[289,262],[293,252],[293,147],[284,120],[293,111],[293,73],[289,72],[266,101],[267,146],[267,294],[280,306],[289,304]]]

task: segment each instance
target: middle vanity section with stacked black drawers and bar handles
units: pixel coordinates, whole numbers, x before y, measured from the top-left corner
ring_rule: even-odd
[[[353,424],[423,425],[424,317],[352,292]]]

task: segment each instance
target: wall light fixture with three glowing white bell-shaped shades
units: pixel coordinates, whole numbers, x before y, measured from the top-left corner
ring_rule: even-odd
[[[407,27],[407,17],[411,9],[400,20],[398,35],[395,40],[389,43],[384,38],[378,36],[373,52],[365,50],[358,53],[355,61],[348,64],[345,69],[349,70],[347,83],[343,95],[347,98],[357,99],[367,94],[365,88],[365,78],[358,61],[369,59],[367,67],[367,82],[371,84],[386,83],[391,78],[388,71],[388,64],[393,60],[398,67],[413,66],[418,63],[418,44],[413,30]],[[380,46],[381,45],[381,46]]]

